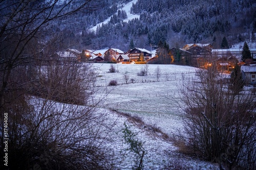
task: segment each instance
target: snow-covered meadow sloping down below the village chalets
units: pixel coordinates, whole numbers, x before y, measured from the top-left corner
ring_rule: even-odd
[[[144,156],[144,169],[163,169],[165,165],[172,164],[172,160],[184,162],[184,169],[217,169],[216,164],[204,162],[195,158],[182,155],[172,140],[164,139],[161,135],[154,135],[147,125],[157,127],[170,138],[184,132],[181,109],[175,102],[180,97],[178,87],[189,78],[195,77],[195,68],[179,65],[148,65],[148,75],[138,76],[144,65],[114,64],[118,72],[109,72],[111,64],[93,64],[98,71],[95,97],[101,98],[107,94],[98,105],[99,108],[110,112],[110,121],[117,120],[114,127],[115,140],[110,144],[115,151],[122,150],[122,129],[124,122],[131,125],[134,132],[138,133],[144,142],[146,154]],[[160,81],[157,82],[155,70],[161,69]],[[134,79],[136,83],[125,84],[123,75]],[[111,80],[118,82],[117,86],[108,86]],[[143,80],[143,82],[142,82]],[[168,81],[166,81],[168,80]],[[141,117],[143,126],[129,122],[126,116],[111,110],[128,113]],[[131,169],[133,160],[131,156],[119,157],[120,169]],[[187,168],[188,167],[188,168]]]

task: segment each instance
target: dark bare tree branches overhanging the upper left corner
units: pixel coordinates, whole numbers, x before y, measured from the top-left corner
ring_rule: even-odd
[[[68,0],[62,6],[60,1],[2,1],[0,31],[0,101],[5,103],[5,91],[12,68],[25,62],[24,55],[33,48],[33,42],[43,43],[42,33],[47,32],[54,21],[63,19],[81,10],[93,9],[92,0]],[[39,39],[40,37],[40,39]],[[34,55],[44,49],[38,48]],[[27,58],[27,57],[26,57]],[[31,57],[32,58],[32,57]]]

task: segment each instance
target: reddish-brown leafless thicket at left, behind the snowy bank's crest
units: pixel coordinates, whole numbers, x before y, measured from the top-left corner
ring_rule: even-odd
[[[68,62],[39,69],[40,75],[32,83],[31,94],[62,103],[87,105],[97,76],[91,64],[81,67],[80,64]]]

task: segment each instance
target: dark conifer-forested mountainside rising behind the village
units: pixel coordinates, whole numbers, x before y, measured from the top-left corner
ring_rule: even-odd
[[[170,47],[196,42],[219,48],[224,36],[232,46],[254,39],[251,35],[256,29],[253,0],[113,0],[93,5],[94,11],[67,18],[63,29],[57,29],[65,31],[66,45],[126,51],[131,41],[149,49],[161,40]]]

